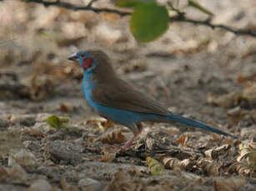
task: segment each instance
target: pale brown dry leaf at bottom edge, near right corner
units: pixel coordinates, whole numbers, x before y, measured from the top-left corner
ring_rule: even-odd
[[[219,179],[215,180],[213,185],[215,191],[236,191],[245,185],[245,180],[242,178]]]

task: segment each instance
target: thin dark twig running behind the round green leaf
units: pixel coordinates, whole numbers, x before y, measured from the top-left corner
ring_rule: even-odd
[[[59,0],[57,0],[55,2],[47,2],[47,1],[43,1],[43,0],[28,0],[26,2],[37,2],[39,4],[43,4],[45,7],[56,6],[56,7],[72,9],[74,11],[84,10],[84,11],[92,11],[92,12],[112,12],[112,13],[116,13],[116,14],[120,15],[121,17],[128,16],[128,15],[132,14],[132,12],[122,12],[122,11],[119,11],[118,9],[113,9],[113,8],[92,7],[93,2],[96,2],[96,1],[97,0],[91,0],[91,2],[89,2],[87,6],[77,6],[77,5],[74,5],[69,2],[60,2]],[[178,13],[178,16],[176,16],[176,17],[170,17],[170,20],[171,20],[171,22],[188,22],[188,23],[192,23],[195,25],[203,25],[203,26],[207,26],[207,27],[212,27],[213,29],[220,28],[220,29],[226,30],[228,32],[233,32],[234,34],[248,35],[251,37],[256,37],[256,31],[253,31],[253,30],[236,29],[236,28],[228,27],[226,25],[221,25],[221,24],[215,25],[215,24],[212,24],[209,20],[206,20],[206,21],[193,20],[193,19],[184,17],[183,14],[179,14],[179,13]]]

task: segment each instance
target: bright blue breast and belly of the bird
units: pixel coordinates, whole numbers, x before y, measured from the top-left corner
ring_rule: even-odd
[[[97,85],[91,80],[91,77],[92,74],[83,76],[83,95],[88,101],[88,105],[90,105],[93,110],[98,111],[98,113],[103,115],[103,117],[108,118],[108,120],[113,120],[114,122],[121,125],[132,126],[141,121],[153,120],[158,117],[157,115],[153,114],[144,114],[98,104],[93,100],[93,97],[91,96],[93,88],[97,88]]]

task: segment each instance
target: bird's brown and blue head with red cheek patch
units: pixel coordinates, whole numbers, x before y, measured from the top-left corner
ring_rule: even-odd
[[[103,51],[78,51],[69,56],[68,60],[78,62],[85,75],[93,73],[98,81],[105,81],[115,76],[111,61]]]

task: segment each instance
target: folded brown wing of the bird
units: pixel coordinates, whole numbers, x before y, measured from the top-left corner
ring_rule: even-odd
[[[115,79],[114,83],[101,83],[93,89],[93,100],[101,105],[142,113],[168,115],[168,110],[128,82]]]

